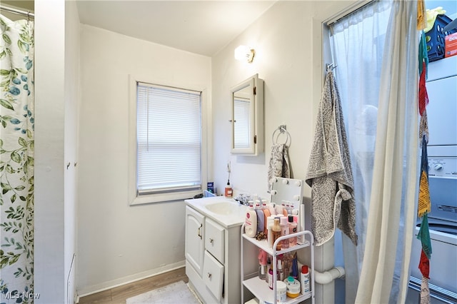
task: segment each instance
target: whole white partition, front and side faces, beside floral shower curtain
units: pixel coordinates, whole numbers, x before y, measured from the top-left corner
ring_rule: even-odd
[[[35,16],[34,292],[74,303],[79,18],[64,0],[36,0]]]

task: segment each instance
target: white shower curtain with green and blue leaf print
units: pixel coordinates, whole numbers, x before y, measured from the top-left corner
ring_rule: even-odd
[[[0,15],[0,297],[33,303],[34,23]]]

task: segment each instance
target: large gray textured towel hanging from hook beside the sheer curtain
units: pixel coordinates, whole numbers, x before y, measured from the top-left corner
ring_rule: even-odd
[[[311,230],[316,245],[330,240],[336,226],[357,245],[351,159],[333,72],[323,86],[306,183],[311,186]]]

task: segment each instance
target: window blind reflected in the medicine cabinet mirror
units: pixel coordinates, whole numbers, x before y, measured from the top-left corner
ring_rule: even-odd
[[[249,148],[251,146],[251,102],[243,98],[235,98],[233,100],[233,116],[235,123],[235,148]]]

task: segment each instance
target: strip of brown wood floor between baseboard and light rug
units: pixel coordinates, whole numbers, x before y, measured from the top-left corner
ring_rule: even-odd
[[[155,275],[151,278],[139,280],[134,283],[122,285],[109,290],[101,291],[100,293],[94,293],[87,295],[79,299],[79,304],[87,303],[103,303],[103,304],[119,304],[126,303],[127,298],[131,298],[135,295],[141,295],[149,290],[161,288],[171,283],[179,282],[180,280],[187,283],[189,278],[186,275],[186,268],[179,268],[176,270],[169,271],[168,273],[162,273]]]

